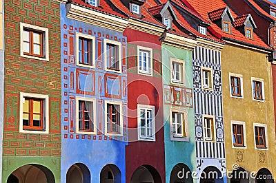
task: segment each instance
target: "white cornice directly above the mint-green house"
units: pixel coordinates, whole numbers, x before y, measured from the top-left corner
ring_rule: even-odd
[[[195,46],[197,45],[197,41],[195,39],[188,39],[184,36],[179,36],[171,33],[166,34],[166,39],[163,43],[190,51],[193,51]]]

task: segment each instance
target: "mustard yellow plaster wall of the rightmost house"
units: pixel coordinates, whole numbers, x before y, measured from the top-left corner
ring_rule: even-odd
[[[249,172],[257,172],[265,167],[273,173],[273,177],[276,177],[271,65],[268,63],[266,54],[243,47],[225,45],[221,51],[221,72],[227,169],[232,171],[233,164],[239,164]],[[229,73],[243,75],[244,98],[230,97]],[[251,77],[264,79],[265,102],[252,99]],[[246,122],[246,149],[233,148],[231,120]],[[268,150],[255,149],[253,122],[267,125]]]

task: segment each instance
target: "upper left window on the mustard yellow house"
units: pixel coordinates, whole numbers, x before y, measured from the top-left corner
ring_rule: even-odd
[[[243,98],[242,75],[229,73],[230,76],[230,96]]]

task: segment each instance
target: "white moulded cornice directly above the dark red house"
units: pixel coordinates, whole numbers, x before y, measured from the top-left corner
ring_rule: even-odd
[[[138,21],[137,19],[128,19],[128,28],[160,36],[164,32],[165,28],[157,26],[158,25]]]

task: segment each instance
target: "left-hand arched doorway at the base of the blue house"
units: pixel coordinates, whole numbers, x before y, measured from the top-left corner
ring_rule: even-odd
[[[90,182],[90,171],[85,164],[76,163],[70,166],[66,173],[67,183],[86,183]]]

